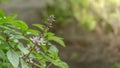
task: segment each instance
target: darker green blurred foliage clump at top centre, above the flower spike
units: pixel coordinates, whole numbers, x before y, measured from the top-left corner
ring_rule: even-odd
[[[66,4],[70,3],[69,1],[65,0],[54,0],[54,4],[47,3],[47,6],[44,11],[44,17],[46,18],[50,14],[55,15],[57,17],[56,21],[60,24],[66,24],[64,22],[69,21],[72,18],[73,14],[72,11],[69,11],[71,8]]]

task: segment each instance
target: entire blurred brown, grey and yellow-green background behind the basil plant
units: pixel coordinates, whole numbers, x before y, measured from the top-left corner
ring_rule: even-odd
[[[120,0],[7,0],[0,9],[29,25],[54,15],[50,30],[64,38],[69,68],[120,68]]]

